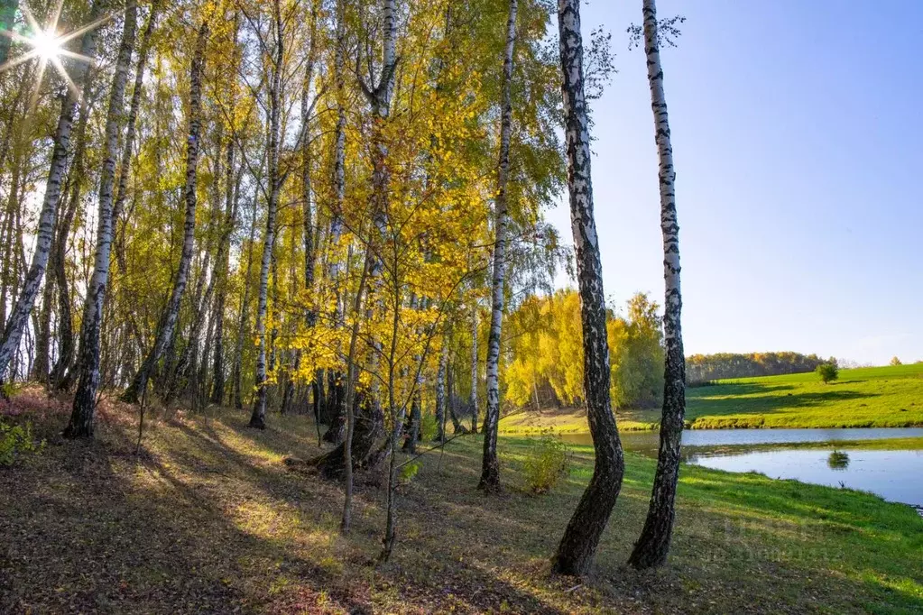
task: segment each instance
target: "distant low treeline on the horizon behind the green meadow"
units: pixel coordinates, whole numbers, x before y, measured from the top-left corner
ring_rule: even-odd
[[[813,372],[818,365],[827,361],[835,360],[800,352],[694,354],[686,358],[686,381],[689,384],[702,384],[725,378]]]

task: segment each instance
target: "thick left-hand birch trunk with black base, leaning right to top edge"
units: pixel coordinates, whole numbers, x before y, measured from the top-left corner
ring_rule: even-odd
[[[105,155],[100,177],[100,207],[96,251],[93,254],[93,274],[87,287],[83,304],[83,322],[80,326],[80,346],[77,370],[80,374],[70,423],[64,432],[71,438],[90,438],[93,435],[93,414],[96,408],[96,389],[100,384],[100,330],[102,329],[102,304],[109,283],[109,257],[113,242],[113,186],[115,157],[118,155],[118,133],[125,106],[125,83],[128,65],[135,49],[135,27],[138,22],[138,3],[128,0],[125,7],[125,25],[119,45],[115,74],[109,93],[109,110],[106,112]]]

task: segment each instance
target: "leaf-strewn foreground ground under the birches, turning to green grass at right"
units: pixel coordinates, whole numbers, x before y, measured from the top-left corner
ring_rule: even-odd
[[[62,442],[66,405],[15,400],[49,444],[0,468],[2,612],[912,613],[923,609],[923,519],[853,491],[684,467],[670,565],[624,567],[653,461],[627,458],[617,510],[582,582],[547,558],[592,471],[575,449],[557,491],[520,490],[530,441],[501,438],[506,494],[476,491],[480,440],[423,458],[399,492],[399,544],[376,565],[385,491],[342,490],[283,459],[318,452],[304,417],[150,420],[134,455],[133,409],[103,402],[96,442]],[[581,585],[579,585],[581,584]],[[578,586],[579,585],[579,586]],[[576,586],[576,588],[574,588]]]

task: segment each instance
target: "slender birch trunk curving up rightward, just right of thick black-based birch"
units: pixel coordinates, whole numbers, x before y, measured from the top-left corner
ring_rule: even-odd
[[[141,363],[138,373],[135,374],[131,385],[122,395],[122,401],[136,403],[148,386],[150,373],[154,365],[160,360],[164,349],[173,343],[176,320],[179,317],[179,306],[186,291],[186,281],[189,278],[189,264],[192,261],[193,247],[196,239],[196,183],[199,150],[199,135],[202,130],[202,73],[205,64],[205,46],[209,40],[209,24],[203,22],[198,29],[196,53],[192,58],[192,69],[189,76],[189,135],[186,141],[186,186],[183,194],[186,200],[186,220],[184,222],[183,251],[180,254],[179,269],[176,272],[174,287],[170,294],[170,301],[158,325],[157,337],[148,356]]]

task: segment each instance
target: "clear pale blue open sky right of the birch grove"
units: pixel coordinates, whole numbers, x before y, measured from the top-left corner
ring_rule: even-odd
[[[923,359],[923,2],[662,0],[687,354]],[[641,0],[581,4],[618,74],[593,105],[605,291],[662,302]],[[557,24],[556,24],[557,25]],[[569,238],[564,202],[549,219]]]

